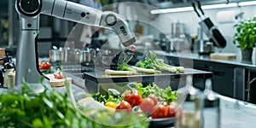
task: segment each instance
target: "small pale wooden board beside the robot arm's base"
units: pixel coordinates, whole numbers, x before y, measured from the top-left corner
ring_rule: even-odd
[[[64,83],[65,83],[65,80],[67,79],[67,82],[68,83],[72,83],[72,79],[71,78],[64,78],[64,79],[55,79],[55,76],[53,73],[49,73],[49,74],[45,74],[45,76],[47,78],[49,78],[49,84],[52,86],[52,87],[61,87],[61,86],[64,86]]]

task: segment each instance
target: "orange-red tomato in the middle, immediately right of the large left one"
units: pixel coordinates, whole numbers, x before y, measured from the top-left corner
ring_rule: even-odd
[[[153,113],[154,101],[149,97],[143,98],[143,102],[140,104],[140,107],[145,113]]]

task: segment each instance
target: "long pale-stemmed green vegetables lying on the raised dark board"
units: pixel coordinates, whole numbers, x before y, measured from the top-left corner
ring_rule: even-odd
[[[174,67],[165,63],[163,59],[159,59],[156,54],[150,51],[150,57],[145,57],[143,61],[137,61],[135,66],[130,66],[125,61],[127,58],[118,62],[117,70],[106,69],[106,75],[137,75],[137,74],[155,74],[155,73],[183,73],[184,67]],[[129,59],[129,58],[128,58]]]

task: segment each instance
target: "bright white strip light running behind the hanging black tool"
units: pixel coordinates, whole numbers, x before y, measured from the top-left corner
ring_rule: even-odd
[[[255,5],[255,4],[256,4],[256,1],[238,3],[239,6],[247,6],[247,5]],[[229,4],[221,3],[221,4],[201,6],[202,9],[221,9],[221,8],[231,8],[231,7],[237,7],[237,3],[229,3]],[[184,12],[184,11],[191,11],[191,10],[194,10],[194,9],[192,7],[172,8],[172,9],[154,9],[154,10],[151,10],[150,13],[154,15],[154,14]]]

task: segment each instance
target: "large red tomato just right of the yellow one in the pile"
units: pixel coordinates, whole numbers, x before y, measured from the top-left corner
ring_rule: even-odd
[[[131,106],[137,106],[142,102],[143,98],[137,90],[128,90],[125,92],[124,100],[129,102]]]

